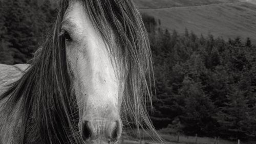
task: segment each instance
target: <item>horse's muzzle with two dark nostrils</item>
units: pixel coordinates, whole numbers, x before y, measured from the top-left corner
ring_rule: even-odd
[[[85,143],[115,143],[122,133],[120,118],[113,120],[105,118],[84,119],[81,136]]]

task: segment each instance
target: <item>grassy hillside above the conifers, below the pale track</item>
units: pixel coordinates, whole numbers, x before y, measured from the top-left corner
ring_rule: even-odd
[[[138,3],[139,1],[141,3]],[[138,7],[143,4],[142,1],[150,3],[153,0],[138,0],[136,2]],[[211,33],[224,39],[237,36],[250,37],[252,42],[256,43],[256,0],[233,1],[231,3],[222,1],[222,3],[217,4],[212,4],[212,2],[219,1],[210,1],[211,3],[201,6],[191,6],[191,0],[182,0],[179,2],[187,2],[182,7],[158,8],[163,7],[164,2],[174,1],[176,0],[160,0],[157,9],[143,8],[140,11],[160,19],[161,26],[168,30],[176,29],[179,33],[184,33],[184,29],[187,28],[198,35]],[[193,2],[195,4],[196,0]],[[148,5],[144,7],[149,7]]]

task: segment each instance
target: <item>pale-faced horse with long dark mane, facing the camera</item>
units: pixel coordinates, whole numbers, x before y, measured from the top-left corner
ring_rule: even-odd
[[[0,143],[117,143],[157,135],[147,33],[132,0],[61,0],[30,64],[0,65]]]

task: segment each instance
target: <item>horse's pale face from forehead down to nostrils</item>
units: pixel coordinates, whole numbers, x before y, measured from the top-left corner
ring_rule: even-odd
[[[84,142],[116,141],[120,120],[120,70],[79,2],[70,3],[62,21],[69,74],[79,107],[79,130]]]

